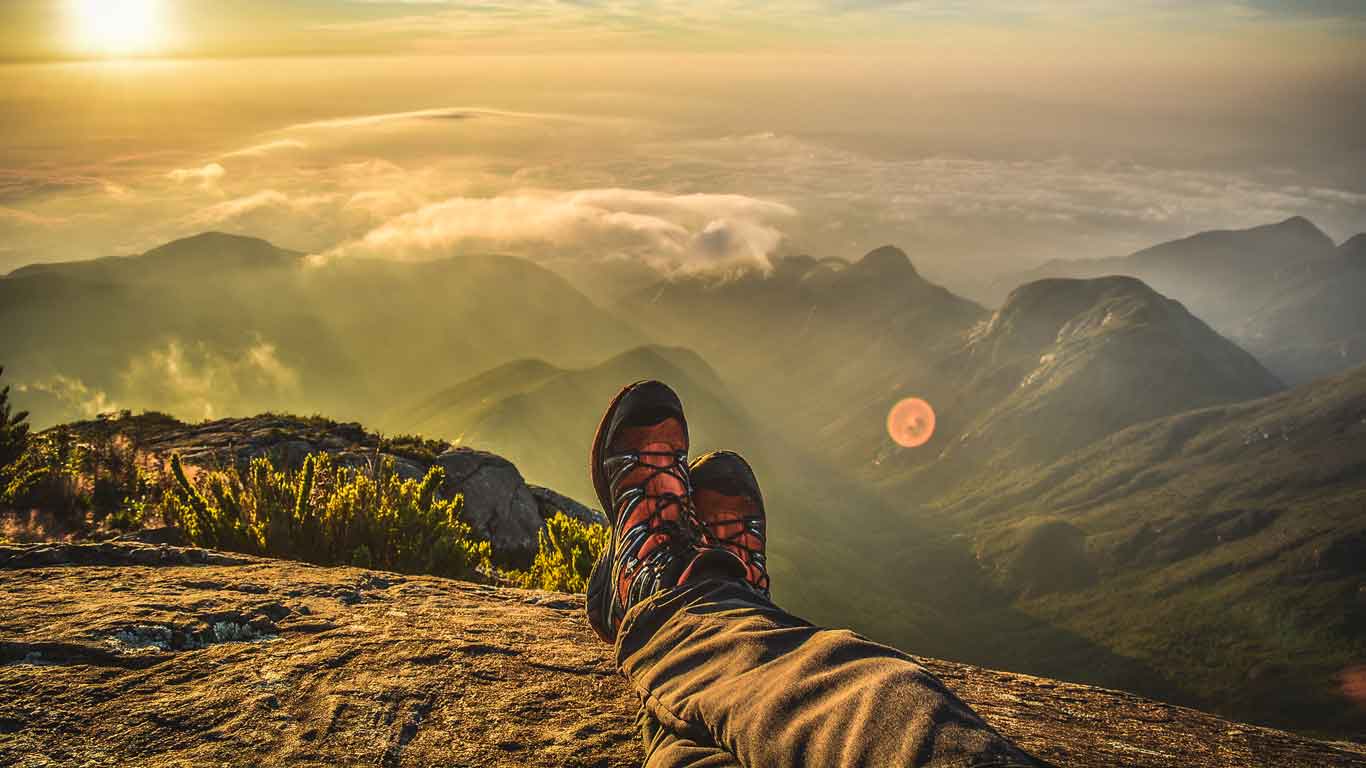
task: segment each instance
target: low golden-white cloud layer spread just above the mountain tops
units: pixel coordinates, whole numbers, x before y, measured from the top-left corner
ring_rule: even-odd
[[[1182,163],[1161,141],[1059,152],[1033,123],[1009,131],[1019,148],[1005,152],[988,119],[1003,107],[990,100],[932,101],[971,120],[926,126],[940,118],[918,109],[870,113],[865,128],[862,118],[836,119],[850,115],[837,105],[709,112],[713,102],[698,98],[687,122],[682,107],[622,98],[613,92],[620,113],[582,116],[553,102],[333,109],[340,116],[281,120],[195,152],[124,149],[7,169],[0,269],[220,230],[320,260],[496,251],[663,271],[762,271],[780,251],[855,258],[896,243],[930,276],[962,286],[1295,215],[1339,239],[1366,230],[1366,187],[1340,163]],[[1150,135],[1139,124],[1123,141]],[[1206,154],[1224,141],[1191,137]]]

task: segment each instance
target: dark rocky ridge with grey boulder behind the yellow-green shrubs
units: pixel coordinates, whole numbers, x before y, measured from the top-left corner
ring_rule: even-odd
[[[438,465],[445,470],[443,492],[464,495],[466,522],[489,540],[500,559],[519,567],[535,555],[537,534],[556,511],[583,521],[604,519],[567,496],[527,485],[518,467],[500,455],[452,448],[438,440],[384,440],[359,424],[275,414],[183,424],[142,414],[81,422],[71,429],[87,437],[122,436],[154,462],[179,454],[186,465],[206,469],[246,465],[258,456],[298,467],[309,454],[329,454],[343,466],[362,469],[393,461],[402,477],[421,478]]]

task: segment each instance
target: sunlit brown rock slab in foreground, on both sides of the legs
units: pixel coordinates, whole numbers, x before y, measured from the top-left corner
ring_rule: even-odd
[[[579,597],[139,544],[0,547],[0,764],[638,765]],[[1130,694],[925,660],[1072,768],[1366,765]]]

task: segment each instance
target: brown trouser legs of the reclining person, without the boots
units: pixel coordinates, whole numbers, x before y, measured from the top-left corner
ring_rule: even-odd
[[[1040,765],[904,653],[811,626],[739,579],[634,607],[616,660],[649,717],[747,768]]]

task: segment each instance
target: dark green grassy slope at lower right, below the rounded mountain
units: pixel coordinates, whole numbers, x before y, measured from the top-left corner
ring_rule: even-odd
[[[1253,720],[1363,732],[1366,368],[1145,422],[941,514],[1018,605]]]

